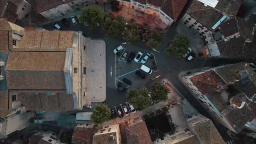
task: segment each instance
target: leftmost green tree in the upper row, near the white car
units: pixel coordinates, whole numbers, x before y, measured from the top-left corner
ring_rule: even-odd
[[[91,6],[83,9],[82,14],[80,14],[78,17],[78,20],[80,23],[87,22],[89,29],[93,30],[98,25],[102,25],[104,16],[104,11],[100,7]]]

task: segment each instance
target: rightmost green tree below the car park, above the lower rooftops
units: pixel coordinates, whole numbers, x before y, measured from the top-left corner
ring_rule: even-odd
[[[166,101],[168,99],[169,91],[164,85],[156,82],[151,87],[152,87],[151,97],[153,101],[158,103],[160,101]]]

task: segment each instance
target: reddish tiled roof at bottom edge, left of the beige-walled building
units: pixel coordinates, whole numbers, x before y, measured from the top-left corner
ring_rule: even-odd
[[[81,125],[82,126],[82,125]],[[72,135],[72,143],[91,144],[94,134],[97,133],[96,128],[90,127],[75,127]]]

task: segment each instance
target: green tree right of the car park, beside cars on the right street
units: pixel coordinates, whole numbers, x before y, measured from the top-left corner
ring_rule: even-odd
[[[188,51],[189,40],[186,36],[176,36],[172,44],[166,47],[166,52],[168,55],[171,53],[175,53],[175,55],[179,58],[183,57],[183,55]]]

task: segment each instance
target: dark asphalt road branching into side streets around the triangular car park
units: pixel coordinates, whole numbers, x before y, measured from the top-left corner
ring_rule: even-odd
[[[69,20],[70,21],[70,20]],[[61,22],[60,22],[61,24]],[[63,26],[62,26],[63,27]],[[211,118],[210,115],[208,114],[208,111],[203,109],[201,104],[193,97],[193,95],[188,91],[187,87],[183,85],[183,83],[179,80],[179,73],[181,71],[188,71],[190,69],[199,69],[202,67],[216,67],[218,65],[223,65],[223,64],[232,64],[232,63],[237,63],[237,62],[243,62],[244,59],[230,59],[230,58],[202,58],[202,57],[195,57],[193,58],[193,61],[188,62],[185,61],[185,59],[181,58],[178,59],[174,55],[173,56],[167,56],[165,52],[165,46],[166,43],[173,39],[174,36],[176,35],[176,23],[173,23],[173,25],[170,27],[169,31],[165,34],[165,38],[161,41],[159,44],[158,51],[160,53],[155,52],[155,51],[150,51],[147,49],[145,46],[144,41],[138,41],[137,43],[133,44],[128,44],[127,46],[125,45],[126,48],[133,47],[134,51],[137,52],[143,51],[143,52],[152,52],[155,55],[157,64],[158,64],[158,71],[156,73],[153,73],[150,78],[147,78],[148,81],[144,81],[141,83],[140,86],[147,86],[150,87],[150,85],[153,82],[160,81],[161,78],[167,78],[170,80],[173,84],[174,87],[183,95],[184,98],[186,98],[191,105],[193,105],[197,111],[199,111],[202,115]],[[45,25],[43,28],[48,29],[48,30],[53,30],[54,27],[52,25]],[[123,43],[124,41],[121,40],[121,37],[119,39],[110,39],[105,37],[104,32],[101,30],[101,28],[97,28],[96,31],[89,31],[87,27],[84,27],[83,25],[75,25],[73,26],[71,24],[70,28],[65,28],[63,27],[62,30],[71,30],[71,31],[82,31],[83,35],[85,37],[91,37],[92,39],[103,39],[106,42],[106,74],[107,74],[107,98],[103,102],[107,104],[109,107],[113,107],[115,105],[119,105],[121,103],[124,103],[126,101],[125,94],[126,92],[119,92],[117,91],[117,88],[115,87],[115,62],[117,61],[113,49]],[[130,48],[132,49],[132,48]],[[120,63],[120,62],[118,62]],[[122,65],[122,64],[121,64]],[[117,66],[119,67],[119,66]],[[138,66],[134,66],[138,67]],[[112,69],[113,74],[110,76],[110,70]],[[129,67],[124,67],[122,65],[122,69],[126,69],[126,71],[132,71],[134,70],[133,66]],[[120,69],[119,69],[120,70]],[[118,70],[117,70],[117,75],[118,75]],[[159,79],[156,79],[154,81],[151,80],[152,77],[156,75],[161,75]],[[138,82],[139,83],[139,82]],[[138,84],[137,84],[138,85]],[[139,87],[137,87],[139,88]],[[225,141],[230,140],[229,136],[226,134],[226,130],[224,127],[219,125],[218,123],[216,124],[217,129],[219,130],[220,134],[223,136],[223,139]]]

